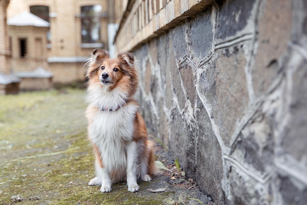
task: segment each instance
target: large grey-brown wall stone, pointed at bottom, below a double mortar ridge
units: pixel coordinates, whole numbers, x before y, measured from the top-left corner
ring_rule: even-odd
[[[216,75],[217,106],[212,107],[212,117],[219,127],[224,144],[228,146],[236,125],[249,105],[245,76],[246,59],[242,44],[218,50],[217,55],[215,70],[209,70],[209,72],[216,72],[216,74],[209,74]],[[214,99],[211,101],[214,102]]]

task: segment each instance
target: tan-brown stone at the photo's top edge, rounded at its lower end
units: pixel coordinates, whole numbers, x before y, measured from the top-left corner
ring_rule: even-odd
[[[292,10],[289,0],[262,1],[259,14],[258,47],[253,68],[256,96],[263,94],[281,72],[283,55],[291,37]]]

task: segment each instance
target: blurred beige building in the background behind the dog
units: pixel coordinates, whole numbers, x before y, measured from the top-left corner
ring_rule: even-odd
[[[125,4],[127,0],[11,0],[9,20],[27,12],[50,26],[10,25],[10,71],[42,67],[53,74],[54,83],[83,81],[83,66],[93,49],[114,53],[113,38]]]

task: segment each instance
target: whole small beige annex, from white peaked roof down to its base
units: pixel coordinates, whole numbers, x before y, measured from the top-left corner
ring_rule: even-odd
[[[50,24],[27,11],[8,19],[7,24],[10,65],[14,68],[12,74],[21,79],[20,90],[52,88],[53,74],[44,69],[48,68],[46,45]]]

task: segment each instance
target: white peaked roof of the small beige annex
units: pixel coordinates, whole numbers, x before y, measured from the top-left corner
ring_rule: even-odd
[[[31,14],[29,12],[23,12],[21,14],[18,14],[10,19],[7,20],[7,25],[11,26],[34,26],[34,27],[49,27],[50,24],[35,16],[34,14]]]

